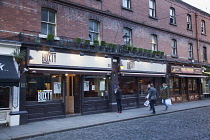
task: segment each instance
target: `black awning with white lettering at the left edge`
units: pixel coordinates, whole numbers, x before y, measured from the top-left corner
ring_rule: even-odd
[[[13,57],[0,55],[0,86],[19,86],[19,81]]]

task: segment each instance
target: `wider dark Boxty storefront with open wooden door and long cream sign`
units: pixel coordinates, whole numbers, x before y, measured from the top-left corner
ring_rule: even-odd
[[[27,122],[109,111],[111,58],[29,50]]]

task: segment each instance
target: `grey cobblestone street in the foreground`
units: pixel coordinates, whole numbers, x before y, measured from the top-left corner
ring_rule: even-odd
[[[209,118],[210,107],[202,107],[28,140],[210,140]]]

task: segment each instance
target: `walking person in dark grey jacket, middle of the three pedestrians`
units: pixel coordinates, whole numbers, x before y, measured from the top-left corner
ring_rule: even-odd
[[[155,111],[155,100],[157,99],[157,90],[154,88],[154,85],[153,84],[149,84],[148,87],[150,88],[149,89],[149,101],[150,101],[150,106],[152,108],[152,114],[156,114],[156,111]]]

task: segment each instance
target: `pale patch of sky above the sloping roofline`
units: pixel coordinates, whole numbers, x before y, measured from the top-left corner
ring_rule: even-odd
[[[210,0],[182,0],[210,14]]]

